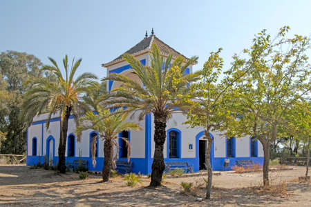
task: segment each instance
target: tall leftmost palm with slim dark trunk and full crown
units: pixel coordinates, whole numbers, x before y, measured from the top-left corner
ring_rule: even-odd
[[[92,83],[93,79],[97,79],[95,75],[89,72],[84,72],[74,79],[75,72],[79,67],[82,59],[68,65],[67,55],[63,59],[65,77],[62,71],[57,66],[54,59],[48,57],[53,66],[44,66],[42,70],[54,74],[57,81],[50,81],[47,78],[39,79],[28,92],[26,92],[23,101],[23,108],[26,111],[26,116],[34,117],[42,111],[48,112],[48,120],[46,128],[50,125],[50,118],[56,112],[60,115],[61,132],[58,147],[58,170],[66,172],[65,152],[66,152],[66,137],[68,130],[68,120],[73,116],[75,123],[79,126],[79,119],[83,112],[88,109],[88,106],[82,100],[82,96],[87,92],[87,86]]]

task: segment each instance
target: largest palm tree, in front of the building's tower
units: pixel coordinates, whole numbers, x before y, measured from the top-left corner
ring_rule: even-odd
[[[170,54],[164,59],[160,55],[158,46],[153,44],[150,67],[143,66],[133,55],[124,54],[123,58],[133,67],[133,72],[143,85],[124,75],[113,73],[106,79],[119,81],[122,85],[111,92],[111,98],[106,103],[113,107],[126,107],[126,112],[139,111],[140,119],[153,113],[155,151],[150,186],[160,186],[165,168],[163,146],[166,139],[167,120],[173,112],[186,109],[183,97],[187,95],[189,83],[196,81],[200,72],[187,75],[185,70],[195,63],[198,57],[191,57],[185,61],[180,56],[173,61],[173,55]]]

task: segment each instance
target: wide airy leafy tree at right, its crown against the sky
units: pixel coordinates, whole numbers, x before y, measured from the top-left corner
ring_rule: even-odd
[[[235,83],[238,91],[232,114],[238,119],[229,124],[233,135],[254,135],[263,145],[263,184],[269,186],[270,145],[281,137],[285,114],[294,101],[310,93],[310,66],[305,51],[307,37],[286,37],[290,28],[280,29],[274,39],[265,30],[258,33],[253,45],[234,56],[232,73],[251,66],[252,70]]]

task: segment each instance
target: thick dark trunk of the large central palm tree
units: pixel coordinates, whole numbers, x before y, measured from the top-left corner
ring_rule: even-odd
[[[163,171],[165,169],[163,147],[166,136],[167,117],[164,113],[154,113],[154,137],[155,142],[152,172],[151,172],[151,187],[161,185]],[[167,152],[169,153],[169,152]]]

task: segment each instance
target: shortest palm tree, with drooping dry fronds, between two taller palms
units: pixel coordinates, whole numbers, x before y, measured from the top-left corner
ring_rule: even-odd
[[[128,148],[127,159],[131,155],[131,148],[129,141],[124,137],[119,137],[119,133],[126,130],[140,130],[140,126],[134,122],[124,121],[128,113],[123,113],[122,109],[117,110],[116,112],[111,112],[109,109],[105,109],[103,106],[97,106],[97,113],[89,111],[86,112],[86,115],[82,117],[82,124],[77,128],[77,137],[81,139],[82,131],[93,129],[99,133],[99,136],[104,140],[104,166],[102,168],[102,181],[109,181],[111,168],[115,168],[115,160],[118,157],[118,139],[122,138],[126,142]],[[95,140],[95,139],[93,139]],[[92,141],[93,142],[93,141]],[[93,144],[93,143],[92,143]],[[96,144],[92,146],[92,161],[93,166],[96,165],[95,153],[96,153]],[[113,146],[116,146],[117,153],[113,159]]]

